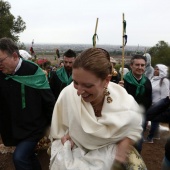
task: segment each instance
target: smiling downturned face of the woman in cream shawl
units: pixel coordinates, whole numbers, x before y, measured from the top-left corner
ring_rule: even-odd
[[[73,69],[72,77],[77,94],[81,95],[85,102],[93,104],[103,99],[104,87],[107,87],[110,81],[109,76],[102,80],[96,77],[95,74],[82,68]]]

